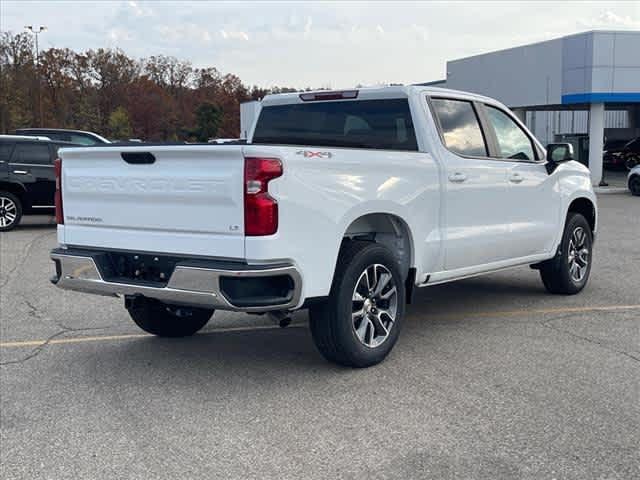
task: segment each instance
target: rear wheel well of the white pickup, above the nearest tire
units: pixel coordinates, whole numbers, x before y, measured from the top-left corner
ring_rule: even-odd
[[[357,218],[347,228],[344,239],[368,240],[386,246],[396,257],[400,274],[406,280],[407,301],[413,293],[415,269],[413,243],[407,224],[390,213],[370,213]]]

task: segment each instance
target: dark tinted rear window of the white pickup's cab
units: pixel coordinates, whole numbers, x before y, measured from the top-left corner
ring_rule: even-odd
[[[407,99],[264,107],[253,143],[418,150]]]

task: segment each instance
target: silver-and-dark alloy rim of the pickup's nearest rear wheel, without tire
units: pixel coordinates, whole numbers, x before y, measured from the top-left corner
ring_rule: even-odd
[[[398,313],[398,289],[387,267],[367,267],[353,290],[351,320],[360,342],[369,348],[389,338]]]

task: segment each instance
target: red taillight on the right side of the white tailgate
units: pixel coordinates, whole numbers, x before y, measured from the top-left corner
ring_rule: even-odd
[[[273,235],[278,231],[278,203],[269,195],[269,181],[282,175],[277,158],[244,159],[244,234]]]

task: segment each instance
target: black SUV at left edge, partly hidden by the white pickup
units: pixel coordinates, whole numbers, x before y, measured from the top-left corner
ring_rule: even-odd
[[[0,135],[0,232],[22,215],[53,214],[56,179],[53,161],[68,142]]]

